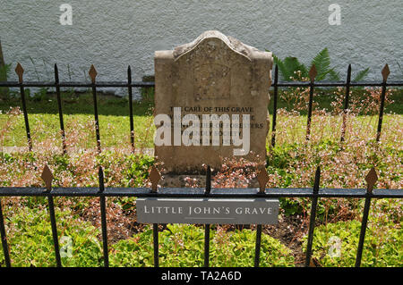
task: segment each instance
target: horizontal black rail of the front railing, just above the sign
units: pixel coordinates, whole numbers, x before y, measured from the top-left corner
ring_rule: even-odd
[[[364,198],[366,189],[319,189],[312,188],[266,189],[260,193],[258,188],[215,189],[205,194],[203,188],[162,188],[158,193],[150,188],[108,188],[99,192],[99,188],[45,188],[0,187],[0,197],[220,197],[220,198],[257,198],[257,197],[339,197]],[[373,189],[373,198],[402,198],[403,189]]]

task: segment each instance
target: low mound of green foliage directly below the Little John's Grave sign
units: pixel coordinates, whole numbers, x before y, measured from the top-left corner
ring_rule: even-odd
[[[253,266],[255,231],[210,231],[211,266]],[[193,225],[168,224],[159,231],[160,266],[202,266],[204,231]],[[153,266],[152,231],[148,228],[132,239],[113,246],[114,266]],[[279,240],[262,235],[261,266],[293,266],[294,257]]]

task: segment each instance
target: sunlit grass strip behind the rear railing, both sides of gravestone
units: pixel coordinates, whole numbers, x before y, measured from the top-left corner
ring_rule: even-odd
[[[30,132],[33,145],[42,142],[49,138],[54,138],[60,141],[60,125],[58,114],[54,113],[32,113],[29,114]],[[289,116],[278,115],[277,128],[280,131],[282,123],[289,121]],[[341,117],[327,117],[325,118],[329,124],[322,125],[315,123],[317,120],[313,117],[313,132],[318,131],[322,133],[323,138],[333,138],[335,130],[331,127],[330,121],[338,122],[341,126]],[[401,122],[403,115],[386,114],[383,118],[382,130],[390,128],[390,122],[396,119]],[[0,114],[0,130],[3,129],[8,116],[4,113]],[[67,140],[74,136],[74,131],[82,130],[81,135],[85,134],[85,138],[74,141],[75,147],[96,147],[95,128],[93,125],[93,115],[89,114],[65,114],[64,115],[64,130]],[[287,134],[280,133],[277,136],[279,143],[286,143],[292,141],[302,142],[306,132],[306,115],[296,116],[293,118],[293,124],[287,129]],[[153,125],[153,117],[150,115],[135,115],[133,116],[134,122],[134,137],[135,146],[137,148],[153,147],[153,134],[155,126]],[[354,125],[356,128],[371,127],[369,133],[366,135],[375,138],[376,127],[378,125],[378,116],[360,116],[356,118]],[[393,130],[392,130],[393,131]],[[397,131],[397,130],[396,130]],[[396,132],[394,131],[394,132]],[[130,122],[129,117],[124,115],[99,115],[99,133],[102,147],[119,147],[129,146],[130,144]],[[340,135],[340,130],[337,130],[337,136]],[[399,135],[396,133],[396,135]],[[348,133],[347,133],[348,136]],[[270,134],[269,137],[270,138]],[[9,131],[5,134],[3,141],[0,142],[3,147],[26,147],[27,138],[25,131],[25,124],[23,115],[19,115],[15,122],[10,127]]]

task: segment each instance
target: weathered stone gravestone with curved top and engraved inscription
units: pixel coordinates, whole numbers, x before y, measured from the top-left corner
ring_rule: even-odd
[[[272,63],[271,53],[216,30],[155,53],[155,156],[166,172],[219,169],[223,158],[265,161]],[[203,120],[213,114],[218,129]]]

